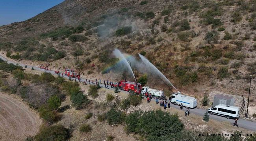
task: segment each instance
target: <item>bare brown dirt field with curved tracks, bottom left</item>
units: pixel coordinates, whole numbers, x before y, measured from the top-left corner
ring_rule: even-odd
[[[13,95],[0,93],[0,141],[23,141],[34,136],[42,121]]]

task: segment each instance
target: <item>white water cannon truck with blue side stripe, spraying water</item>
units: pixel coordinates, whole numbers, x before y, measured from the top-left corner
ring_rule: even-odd
[[[185,96],[180,94],[180,92],[174,93],[169,100],[171,100],[171,103],[174,105],[183,105],[186,108],[195,108],[197,107],[197,99],[191,97],[191,96]]]

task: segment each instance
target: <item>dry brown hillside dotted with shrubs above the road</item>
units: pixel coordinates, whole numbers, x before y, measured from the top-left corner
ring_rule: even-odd
[[[54,69],[78,69],[79,56],[82,77],[115,81],[121,76],[104,70],[119,48],[146,56],[182,92],[247,96],[256,72],[255,25],[256,0],[66,0],[0,27],[0,47],[14,60],[21,52],[26,63],[47,58]],[[254,75],[251,93],[255,98]]]

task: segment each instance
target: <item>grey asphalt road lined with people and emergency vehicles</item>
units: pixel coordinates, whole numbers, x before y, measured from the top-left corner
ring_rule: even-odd
[[[15,63],[15,62],[13,62],[13,61],[7,60],[7,59],[4,58],[2,55],[0,55],[0,58],[2,58],[2,60],[4,60],[4,61],[7,61],[8,63],[17,64],[17,63]],[[25,67],[25,65],[22,64],[22,63],[18,63],[18,64],[19,64],[20,66],[22,66],[22,67]],[[27,67],[28,67],[28,68],[32,68],[32,66],[29,66],[29,65],[27,65]],[[33,68],[34,68],[35,70],[37,70],[37,71],[50,72],[50,73],[53,74],[53,75],[57,75],[57,74],[54,74],[54,71],[44,71],[43,69],[40,69],[39,67],[35,67],[35,66],[33,66]],[[61,73],[61,72],[60,72],[60,73]],[[64,76],[64,78],[69,78],[69,77]],[[71,78],[71,79],[72,79],[72,80],[75,80],[75,78]],[[84,79],[81,79],[81,81],[85,81],[85,80],[84,80]],[[102,81],[102,83],[103,83],[103,81]],[[100,86],[101,86],[102,88],[105,87],[105,85],[103,85],[103,84],[101,84]],[[111,88],[108,88],[108,89],[111,89]],[[114,89],[113,89],[113,90],[114,90]],[[128,94],[128,92],[127,92],[127,94]],[[154,100],[154,99],[153,99],[153,100]],[[171,107],[180,109],[180,106],[178,106],[178,105],[173,105],[173,104],[171,104]],[[184,114],[185,114],[186,108],[184,107],[182,110],[184,111]],[[205,113],[206,111],[207,111],[207,110],[201,109],[201,108],[190,109],[190,113],[196,114],[196,115],[198,115],[198,116],[204,116],[204,113]],[[209,115],[210,115],[210,114],[209,114]],[[217,116],[217,115],[210,115],[210,119],[215,119],[215,120],[217,120],[217,121],[229,121],[230,124],[232,124],[232,125],[233,125],[233,123],[234,123],[234,119],[227,119],[226,117]],[[248,129],[248,130],[256,131],[256,123],[255,123],[255,122],[252,122],[252,121],[248,121],[248,120],[245,120],[245,119],[240,118],[240,119],[237,121],[237,125],[238,125],[239,127],[242,127],[242,128]],[[236,128],[236,127],[234,127],[234,128]]]

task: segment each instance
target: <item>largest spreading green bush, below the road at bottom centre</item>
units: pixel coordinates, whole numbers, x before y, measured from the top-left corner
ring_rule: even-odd
[[[170,115],[169,112],[163,112],[162,110],[150,110],[143,113],[132,112],[126,117],[125,123],[128,133],[133,132],[143,135],[147,141],[171,140],[173,136],[167,137],[167,134],[176,134],[184,128],[178,115]],[[156,128],[163,123],[165,126]]]

